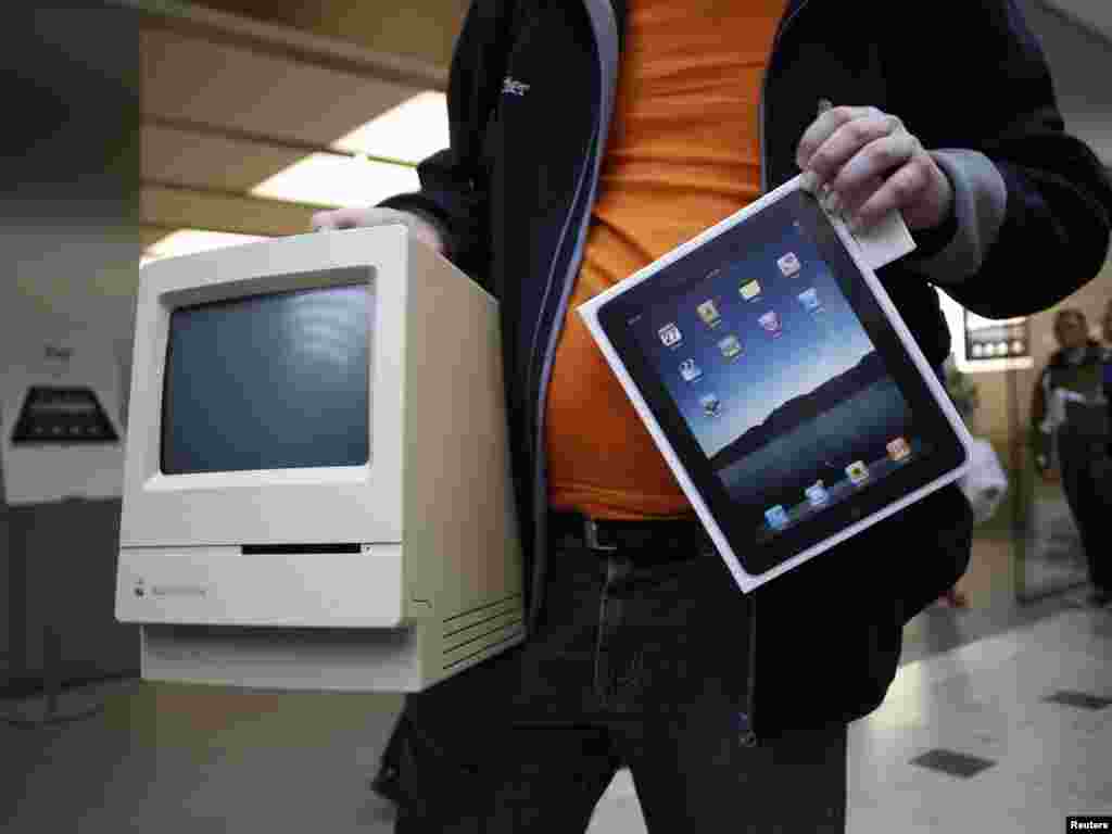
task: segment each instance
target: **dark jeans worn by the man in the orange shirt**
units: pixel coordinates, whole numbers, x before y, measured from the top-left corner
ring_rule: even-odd
[[[747,746],[746,597],[638,556],[554,547],[530,638],[409,697],[398,834],[582,832],[619,767],[651,832],[844,832],[845,725]]]

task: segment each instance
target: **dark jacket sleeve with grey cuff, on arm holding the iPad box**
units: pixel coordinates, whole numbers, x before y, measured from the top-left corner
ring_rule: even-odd
[[[909,260],[989,318],[1037,312],[1104,264],[1112,185],[1068,133],[1042,48],[1012,0],[939,2],[886,50],[892,111],[954,186],[956,228]],[[943,46],[944,44],[944,46]]]

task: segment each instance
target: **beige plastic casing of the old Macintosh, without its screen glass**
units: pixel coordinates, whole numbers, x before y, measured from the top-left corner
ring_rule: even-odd
[[[349,284],[370,298],[368,463],[162,474],[171,312]],[[497,302],[403,226],[147,265],[131,386],[116,614],[146,678],[414,692],[523,639]]]

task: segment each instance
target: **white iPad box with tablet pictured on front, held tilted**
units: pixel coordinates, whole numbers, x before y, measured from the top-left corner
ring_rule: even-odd
[[[578,308],[738,587],[962,476],[971,438],[854,238],[798,178]]]

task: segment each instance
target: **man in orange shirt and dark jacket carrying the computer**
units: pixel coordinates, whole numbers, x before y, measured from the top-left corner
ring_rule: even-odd
[[[914,28],[878,2],[477,0],[448,110],[420,192],[315,219],[400,219],[500,300],[528,638],[408,699],[397,831],[583,831],[628,766],[654,832],[842,832],[846,723],[964,570],[967,503],[742,595],[574,309],[801,170],[854,224],[902,210],[919,248],[880,275],[932,363],[932,284],[985,316],[1055,304],[1103,262],[1112,193],[1037,44],[1006,0]]]

